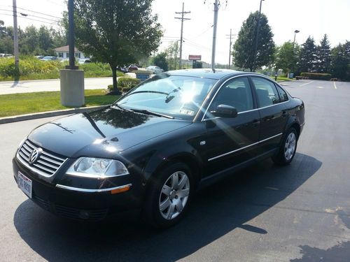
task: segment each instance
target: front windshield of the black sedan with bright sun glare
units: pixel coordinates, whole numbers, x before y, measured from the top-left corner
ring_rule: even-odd
[[[148,110],[193,120],[216,80],[161,73],[117,101],[128,110]]]

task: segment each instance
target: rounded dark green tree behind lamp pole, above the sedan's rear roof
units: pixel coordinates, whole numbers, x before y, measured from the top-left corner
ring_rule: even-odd
[[[251,13],[243,22],[232,52],[235,66],[249,68],[250,71],[261,66],[268,66],[272,64],[274,59],[274,41],[272,39],[274,35],[266,15],[261,14],[255,68],[253,68],[258,16],[258,11]]]

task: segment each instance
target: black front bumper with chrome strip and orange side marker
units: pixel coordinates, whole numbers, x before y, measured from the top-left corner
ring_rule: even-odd
[[[15,157],[13,173],[16,182],[18,171],[32,181],[31,200],[59,217],[101,221],[113,214],[137,210],[141,206],[141,189],[137,181],[123,181],[123,184],[114,184],[113,187],[111,183],[104,186],[104,182],[99,181],[101,187],[87,188],[80,182],[81,178],[69,177],[69,184],[73,186],[68,186],[64,174],[58,173],[57,178],[51,181],[42,179]]]

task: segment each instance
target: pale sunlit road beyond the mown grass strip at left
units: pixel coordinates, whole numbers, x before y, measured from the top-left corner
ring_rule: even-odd
[[[108,85],[112,85],[112,83],[112,78],[85,78],[84,87],[85,89],[106,89]],[[41,91],[59,91],[59,89],[59,79],[0,82],[0,95]]]

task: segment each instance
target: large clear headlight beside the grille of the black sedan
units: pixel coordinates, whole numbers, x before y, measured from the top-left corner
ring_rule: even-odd
[[[66,174],[101,179],[128,175],[129,172],[124,164],[118,160],[80,157],[66,171]]]

